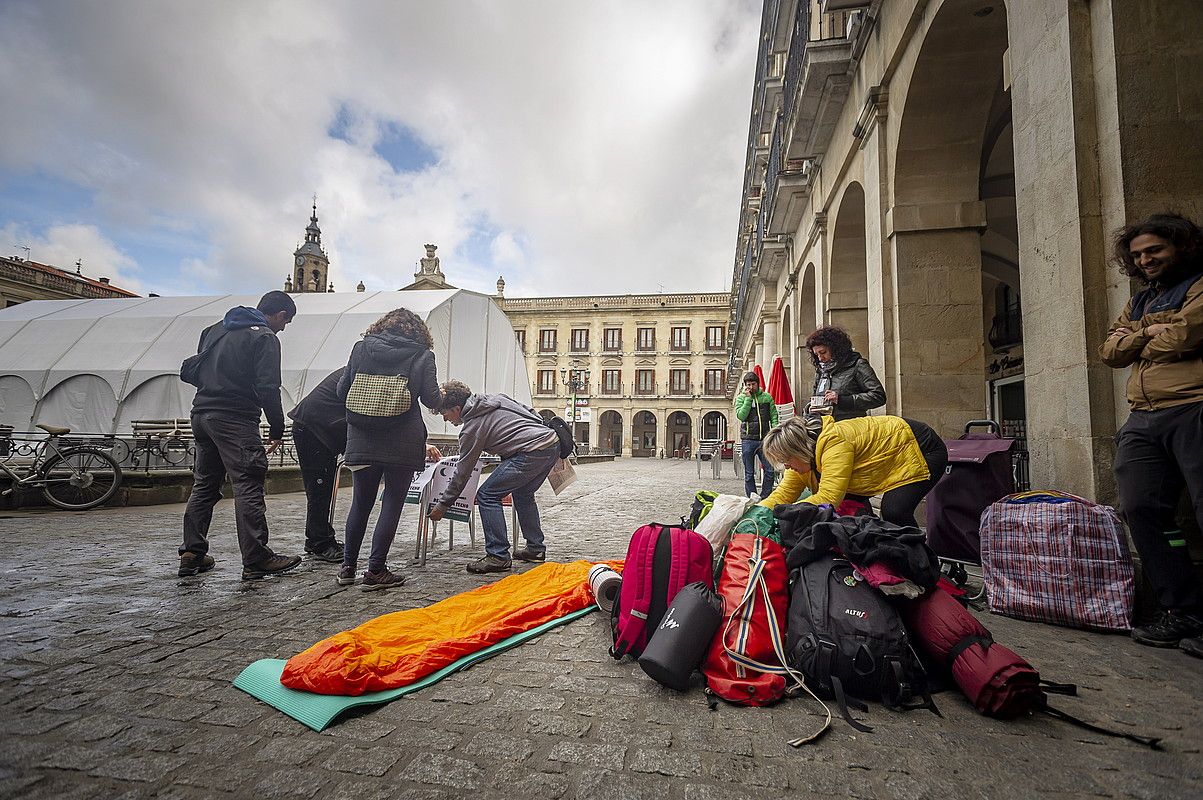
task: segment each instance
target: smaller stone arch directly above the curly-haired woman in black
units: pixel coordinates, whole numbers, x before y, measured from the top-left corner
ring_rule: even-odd
[[[831,269],[826,322],[852,337],[853,346],[869,350],[869,278],[865,257],[865,190],[851,182],[840,198],[831,229]]]

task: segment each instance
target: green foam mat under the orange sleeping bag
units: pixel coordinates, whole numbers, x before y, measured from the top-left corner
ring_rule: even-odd
[[[375,705],[380,703],[389,703],[396,700],[399,697],[409,694],[410,692],[417,692],[419,689],[425,689],[427,686],[438,683],[448,675],[452,672],[458,672],[462,669],[468,669],[478,662],[482,662],[487,658],[505,652],[511,647],[516,647],[522,642],[534,639],[539,634],[550,630],[557,626],[571,622],[583,617],[586,614],[595,610],[595,605],[587,605],[579,611],[571,611],[559,617],[558,620],[552,620],[550,622],[544,622],[541,626],[531,628],[529,630],[523,630],[522,633],[516,633],[508,639],[503,639],[494,645],[490,645],[484,650],[479,650],[475,653],[469,653],[463,658],[451,662],[443,669],[431,672],[426,677],[417,680],[408,686],[402,686],[396,689],[385,689],[384,692],[368,692],[367,694],[361,694],[358,697],[343,697],[337,694],[314,694],[313,692],[298,692],[297,689],[290,689],[280,683],[280,675],[284,672],[284,664],[288,662],[279,658],[261,658],[247,669],[242,671],[238,677],[235,678],[233,685],[245,692],[247,694],[262,700],[267,705],[283,711],[297,722],[301,722],[314,730],[325,730],[330,723],[332,723],[340,713],[355,709],[361,705]]]

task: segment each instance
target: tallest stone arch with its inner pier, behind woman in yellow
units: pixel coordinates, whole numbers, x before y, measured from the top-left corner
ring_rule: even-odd
[[[891,413],[946,435],[990,411],[983,398],[994,302],[983,296],[992,298],[998,283],[983,263],[1018,260],[1007,11],[1002,2],[982,10],[977,0],[944,0],[909,81],[899,83],[905,97],[888,226],[896,343],[887,343],[897,357],[883,383]]]

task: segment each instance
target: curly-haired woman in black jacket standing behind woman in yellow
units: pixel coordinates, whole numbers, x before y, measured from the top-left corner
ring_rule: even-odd
[[[814,387],[807,416],[848,420],[866,416],[869,409],[885,405],[885,389],[872,366],[852,349],[852,339],[841,327],[824,325],[806,337],[806,349],[814,365]]]

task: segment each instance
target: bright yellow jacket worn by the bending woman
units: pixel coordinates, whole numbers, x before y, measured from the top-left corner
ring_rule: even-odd
[[[814,443],[814,469],[802,475],[787,469],[772,494],[760,505],[796,503],[804,488],[813,494],[802,503],[838,505],[845,494],[872,497],[931,476],[911,426],[901,416],[860,416],[836,421],[823,417]]]

